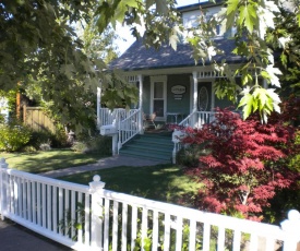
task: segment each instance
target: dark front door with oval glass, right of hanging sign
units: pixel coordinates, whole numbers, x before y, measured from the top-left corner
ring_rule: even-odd
[[[212,83],[201,82],[197,85],[197,110],[212,110]]]

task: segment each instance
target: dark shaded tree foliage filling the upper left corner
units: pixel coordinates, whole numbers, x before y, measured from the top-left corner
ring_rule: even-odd
[[[0,88],[9,91],[19,86],[28,96],[38,96],[41,103],[47,103],[53,115],[61,115],[62,123],[82,127],[86,117],[95,117],[93,103],[100,84],[110,89],[107,99],[117,99],[111,104],[129,105],[111,95],[116,89],[120,95],[134,94],[134,87],[113,83],[105,71],[107,67],[100,57],[116,57],[106,47],[115,33],[105,29],[105,37],[96,33],[95,8],[96,0],[1,1]],[[75,33],[79,23],[85,24],[82,36]],[[106,55],[95,53],[99,50],[95,46],[97,39],[106,39],[104,45],[98,44]],[[134,100],[131,95],[131,101]]]

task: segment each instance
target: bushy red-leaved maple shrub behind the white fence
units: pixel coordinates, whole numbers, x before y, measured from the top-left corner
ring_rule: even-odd
[[[287,162],[299,151],[293,144],[296,128],[286,122],[291,116],[274,113],[267,124],[257,116],[242,120],[229,109],[216,109],[215,117],[200,130],[188,129],[183,140],[209,150],[197,167],[187,171],[204,183],[195,206],[261,220],[276,191],[299,179],[299,170]]]

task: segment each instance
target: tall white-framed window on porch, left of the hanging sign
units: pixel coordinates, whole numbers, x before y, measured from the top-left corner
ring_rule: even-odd
[[[151,112],[156,113],[156,120],[164,121],[166,117],[166,79],[161,76],[152,77],[151,88]]]

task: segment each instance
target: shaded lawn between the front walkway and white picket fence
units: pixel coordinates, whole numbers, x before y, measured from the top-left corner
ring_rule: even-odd
[[[178,203],[183,195],[195,195],[201,187],[185,176],[179,166],[171,164],[149,167],[121,166],[59,179],[88,184],[94,175],[99,175],[101,181],[106,182],[105,189],[170,203]]]

